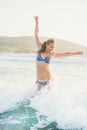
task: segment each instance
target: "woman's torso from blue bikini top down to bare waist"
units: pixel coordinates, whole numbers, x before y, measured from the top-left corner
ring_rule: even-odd
[[[51,77],[49,65],[51,56],[45,55],[42,53],[37,54],[37,62],[36,62],[36,69],[37,69],[37,80],[44,81],[48,80]]]

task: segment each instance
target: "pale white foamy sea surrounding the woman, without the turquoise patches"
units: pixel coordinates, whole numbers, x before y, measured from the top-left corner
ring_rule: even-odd
[[[59,128],[87,130],[86,57],[54,59],[53,88],[37,94],[35,55],[0,54],[0,61],[0,113],[30,98],[31,107]]]

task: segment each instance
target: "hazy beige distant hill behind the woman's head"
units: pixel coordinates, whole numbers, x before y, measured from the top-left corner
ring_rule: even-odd
[[[40,37],[43,42],[49,37]],[[83,51],[87,54],[87,47],[64,41],[61,39],[55,39],[56,52],[67,51]],[[13,53],[35,53],[37,51],[35,39],[33,36],[21,36],[21,37],[4,37],[0,36],[0,52],[13,52]]]

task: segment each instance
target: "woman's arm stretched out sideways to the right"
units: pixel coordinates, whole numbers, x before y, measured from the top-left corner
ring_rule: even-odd
[[[65,52],[65,53],[54,53],[54,57],[65,57],[65,56],[74,56],[82,55],[83,52]]]

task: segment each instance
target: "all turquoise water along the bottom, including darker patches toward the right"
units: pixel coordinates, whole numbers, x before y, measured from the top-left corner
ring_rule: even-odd
[[[35,126],[38,120],[44,122],[43,128]],[[29,104],[22,103],[17,108],[13,110],[6,111],[0,114],[0,130],[48,130],[57,129],[57,123],[49,123],[46,121],[46,116],[37,116],[37,111],[31,107]]]

